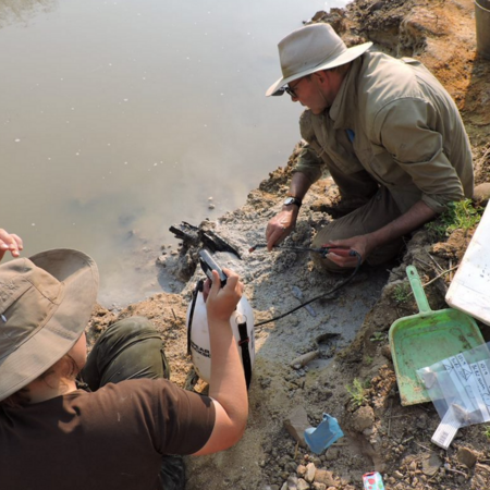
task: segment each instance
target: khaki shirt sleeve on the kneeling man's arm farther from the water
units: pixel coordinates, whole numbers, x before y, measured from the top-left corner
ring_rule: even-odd
[[[424,203],[442,212],[449,203],[463,199],[464,191],[444,154],[444,135],[438,130],[438,114],[432,105],[409,97],[392,101],[378,112],[371,137],[412,177]]]

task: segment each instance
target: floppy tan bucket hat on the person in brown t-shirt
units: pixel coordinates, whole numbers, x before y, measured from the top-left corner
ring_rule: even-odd
[[[82,335],[97,301],[95,261],[54,249],[0,265],[0,401],[34,381]]]

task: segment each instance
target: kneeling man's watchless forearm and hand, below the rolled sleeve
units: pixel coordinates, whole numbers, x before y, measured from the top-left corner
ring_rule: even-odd
[[[437,216],[436,211],[429,208],[422,200],[419,200],[407,212],[396,218],[391,223],[366,235],[353,236],[346,240],[335,240],[323,244],[327,247],[342,247],[356,250],[364,261],[377,247],[400,238],[403,235],[416,230]],[[341,267],[355,267],[357,257],[340,256],[331,252],[329,259]]]

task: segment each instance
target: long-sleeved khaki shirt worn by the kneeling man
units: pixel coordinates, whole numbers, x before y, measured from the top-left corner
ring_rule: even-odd
[[[419,62],[366,52],[355,60],[332,107],[299,120],[308,143],[295,171],[311,183],[322,166],[354,174],[365,169],[402,212],[424,200],[442,212],[473,196],[471,151],[450,95]],[[347,132],[347,130],[350,130]]]

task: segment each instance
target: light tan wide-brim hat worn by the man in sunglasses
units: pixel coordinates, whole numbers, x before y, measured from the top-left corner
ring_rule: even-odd
[[[347,48],[330,24],[311,24],[293,30],[279,45],[282,77],[272,84],[266,96],[282,95],[282,87],[320,70],[348,63],[365,53],[372,42]]]

